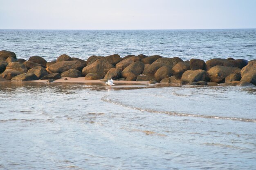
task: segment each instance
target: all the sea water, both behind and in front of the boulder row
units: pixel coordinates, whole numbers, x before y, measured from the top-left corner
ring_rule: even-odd
[[[256,59],[256,29],[0,30],[17,58]],[[0,82],[0,170],[255,170],[256,87]]]

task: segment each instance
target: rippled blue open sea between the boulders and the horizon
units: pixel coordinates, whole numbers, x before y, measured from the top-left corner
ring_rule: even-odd
[[[209,30],[0,30],[0,50],[18,58],[61,54],[87,59],[119,54],[199,58],[256,58],[256,29]]]

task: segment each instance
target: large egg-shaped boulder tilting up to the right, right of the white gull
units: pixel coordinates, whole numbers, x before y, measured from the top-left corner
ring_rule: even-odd
[[[128,76],[132,76],[132,80],[134,80],[134,79],[136,80],[137,76],[139,76],[139,74],[141,74],[143,72],[143,70],[144,70],[144,64],[141,61],[137,61],[137,62],[130,64],[128,67],[126,67],[121,72],[121,75],[122,75],[122,77],[126,78],[126,81],[127,81]],[[131,79],[131,78],[128,78],[128,79]]]

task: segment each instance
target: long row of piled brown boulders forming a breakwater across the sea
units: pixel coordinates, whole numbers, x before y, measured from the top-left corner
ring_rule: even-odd
[[[40,56],[28,60],[11,51],[0,51],[0,81],[56,80],[61,77],[86,80],[149,81],[174,85],[256,85],[256,60],[213,58],[208,61],[164,58],[159,55],[90,56],[88,60],[66,54],[54,61]]]

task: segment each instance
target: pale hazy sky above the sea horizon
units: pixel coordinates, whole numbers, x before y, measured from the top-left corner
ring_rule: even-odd
[[[256,28],[256,0],[0,0],[0,29]]]

